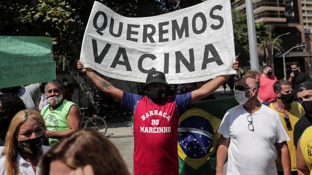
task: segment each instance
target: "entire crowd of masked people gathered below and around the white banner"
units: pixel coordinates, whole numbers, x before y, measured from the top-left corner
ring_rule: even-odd
[[[148,73],[144,95],[114,87],[94,70],[77,68],[105,94],[133,113],[135,175],[177,175],[179,116],[207,99],[229,79],[239,105],[219,126],[216,174],[309,175],[312,168],[312,81],[292,63],[288,81],[277,80],[272,67],[249,70],[238,80],[220,75],[207,82],[172,86],[163,72]],[[238,70],[238,61],[232,65]],[[78,105],[71,102],[67,79],[0,89],[0,174],[128,175],[114,144],[94,130],[80,129]],[[295,89],[296,88],[296,89]],[[66,89],[66,90],[65,90]],[[186,93],[183,93],[185,91]],[[41,94],[44,92],[44,94]],[[65,98],[66,97],[66,98]],[[41,104],[40,109],[37,104]],[[45,105],[44,105],[45,104]],[[38,109],[38,110],[36,110]]]

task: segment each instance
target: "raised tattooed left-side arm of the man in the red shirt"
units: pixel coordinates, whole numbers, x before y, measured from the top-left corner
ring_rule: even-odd
[[[91,68],[84,68],[80,60],[77,62],[77,68],[80,72],[85,73],[101,91],[113,97],[118,102],[122,102],[122,90],[115,88],[110,82],[98,76],[98,74],[95,73]]]

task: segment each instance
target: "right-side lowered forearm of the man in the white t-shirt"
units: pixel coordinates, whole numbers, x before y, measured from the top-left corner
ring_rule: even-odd
[[[291,156],[289,154],[287,142],[275,143],[278,156],[282,160],[284,175],[291,175]]]

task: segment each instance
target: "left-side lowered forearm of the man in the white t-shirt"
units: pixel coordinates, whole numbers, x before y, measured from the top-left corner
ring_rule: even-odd
[[[230,138],[220,137],[218,149],[216,151],[216,175],[223,175],[223,165],[228,155],[229,144]]]

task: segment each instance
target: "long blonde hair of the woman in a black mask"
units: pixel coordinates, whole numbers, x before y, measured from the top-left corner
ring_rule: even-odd
[[[17,136],[20,131],[20,126],[28,120],[35,120],[42,124],[44,130],[46,131],[44,120],[40,113],[36,110],[21,110],[13,117],[8,132],[6,133],[3,152],[3,155],[5,156],[4,167],[7,175],[19,174],[19,167],[16,162],[19,151]]]

